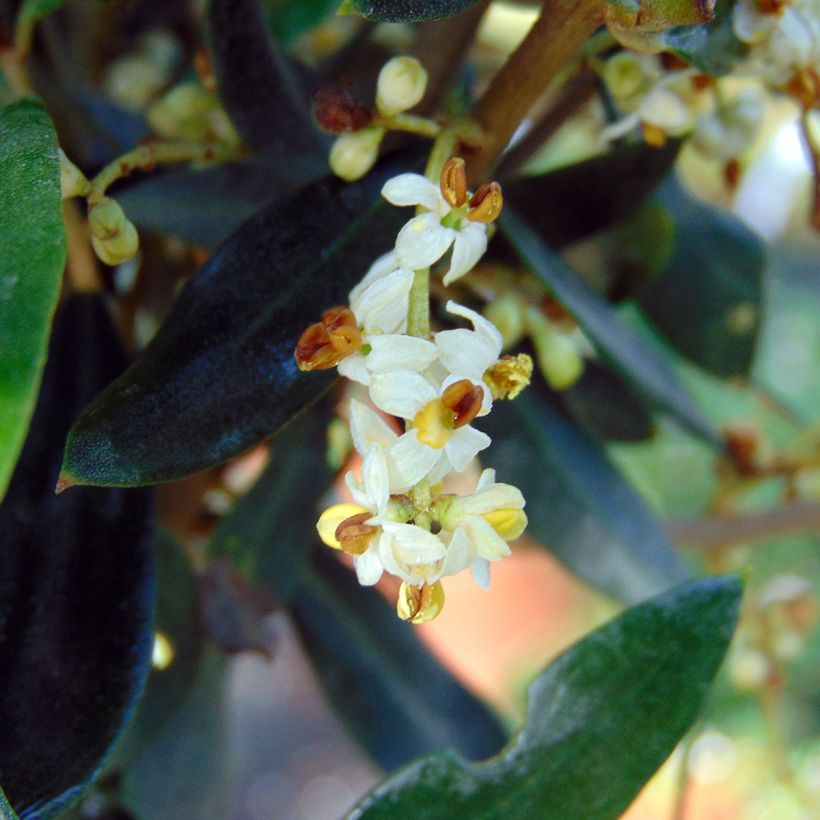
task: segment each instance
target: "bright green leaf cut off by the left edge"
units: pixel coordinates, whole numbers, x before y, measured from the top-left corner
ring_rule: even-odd
[[[26,437],[65,265],[57,137],[42,105],[0,110],[0,498]]]

